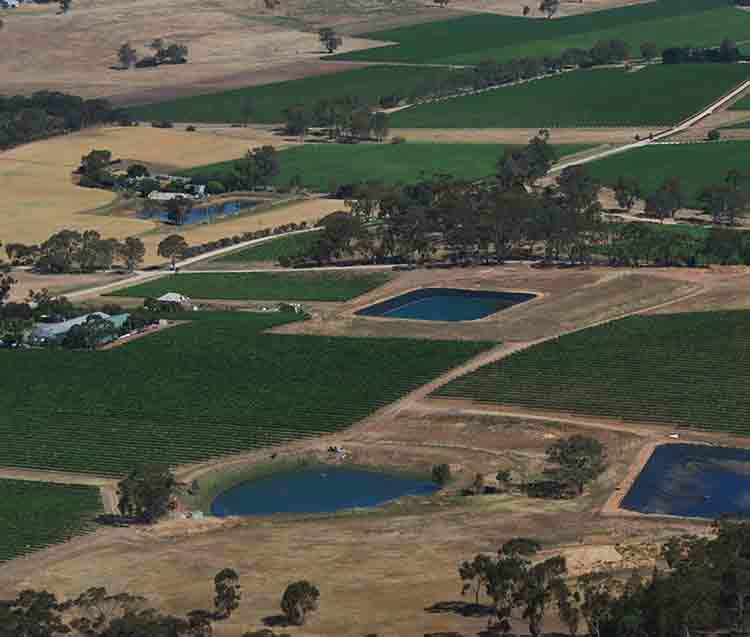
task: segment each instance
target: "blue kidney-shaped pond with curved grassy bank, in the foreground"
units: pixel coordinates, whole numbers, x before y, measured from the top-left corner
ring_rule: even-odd
[[[270,515],[331,513],[372,507],[407,495],[430,495],[432,482],[361,469],[316,467],[277,473],[238,484],[217,496],[211,513]]]

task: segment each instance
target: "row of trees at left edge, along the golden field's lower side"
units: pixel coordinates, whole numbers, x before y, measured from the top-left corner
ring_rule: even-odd
[[[119,262],[129,271],[143,261],[146,248],[138,237],[102,239],[96,230],[61,230],[44,243],[8,243],[5,253],[16,266],[32,266],[46,274],[109,270]]]

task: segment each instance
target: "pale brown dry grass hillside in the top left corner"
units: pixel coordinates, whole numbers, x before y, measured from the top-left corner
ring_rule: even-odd
[[[84,96],[111,96],[135,89],[193,85],[290,63],[316,60],[322,53],[314,27],[369,20],[392,12],[384,0],[284,1],[268,11],[262,0],[76,0],[66,15],[57,5],[46,11],[9,13],[0,60],[4,93],[38,89]],[[404,13],[419,11],[407,0]],[[130,41],[140,55],[154,38],[189,47],[189,63],[156,69],[113,70],[116,51]],[[347,37],[342,51],[369,46]]]

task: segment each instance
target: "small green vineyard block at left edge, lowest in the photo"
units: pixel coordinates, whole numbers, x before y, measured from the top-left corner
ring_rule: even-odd
[[[93,528],[95,487],[0,479],[0,563]]]

